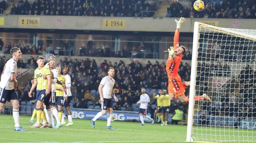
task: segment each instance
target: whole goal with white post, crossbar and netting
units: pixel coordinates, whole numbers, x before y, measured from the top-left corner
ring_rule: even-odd
[[[187,141],[256,142],[255,55],[256,30],[195,23]]]

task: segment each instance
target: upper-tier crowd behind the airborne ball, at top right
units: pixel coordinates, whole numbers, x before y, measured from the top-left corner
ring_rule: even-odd
[[[192,4],[196,0],[192,1]],[[202,0],[204,10],[195,11],[193,6],[174,2],[167,8],[166,17],[185,18],[247,18],[256,19],[255,0]]]

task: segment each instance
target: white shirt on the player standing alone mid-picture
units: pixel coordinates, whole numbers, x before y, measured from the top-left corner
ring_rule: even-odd
[[[102,88],[103,98],[108,98],[108,99],[112,98],[111,93],[115,85],[115,80],[113,78],[111,80],[109,76],[105,76],[100,81],[100,85],[103,85],[103,88]]]

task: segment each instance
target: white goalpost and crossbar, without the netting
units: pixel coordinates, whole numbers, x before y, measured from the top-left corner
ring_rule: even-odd
[[[199,31],[200,26],[203,26],[207,30],[218,30],[219,33],[241,37],[244,39],[249,39],[256,41],[256,36],[252,33],[239,33],[239,29],[230,28],[219,28],[216,26],[207,25],[204,23],[195,22],[194,23],[194,34],[193,34],[193,46],[192,46],[192,61],[191,61],[191,83],[189,89],[189,109],[188,109],[188,120],[187,120],[187,142],[194,142],[192,138],[193,133],[193,116],[194,116],[194,96],[196,91],[196,72],[197,72],[197,55],[199,46]]]

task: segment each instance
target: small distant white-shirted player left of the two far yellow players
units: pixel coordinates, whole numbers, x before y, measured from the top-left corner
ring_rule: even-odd
[[[144,118],[151,120],[152,125],[154,124],[154,120],[151,119],[151,117],[149,117],[147,115],[147,103],[150,102],[149,99],[149,95],[146,94],[146,90],[145,88],[141,88],[141,98],[140,101],[137,102],[137,105],[141,103],[140,108],[139,108],[139,115],[140,115],[140,119],[141,119],[141,126],[144,126]],[[143,115],[143,116],[142,116]]]

